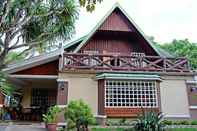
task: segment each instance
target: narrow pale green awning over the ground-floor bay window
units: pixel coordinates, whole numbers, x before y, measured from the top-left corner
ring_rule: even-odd
[[[131,74],[131,73],[101,73],[96,75],[96,79],[118,79],[118,80],[159,80],[159,75],[154,74]]]

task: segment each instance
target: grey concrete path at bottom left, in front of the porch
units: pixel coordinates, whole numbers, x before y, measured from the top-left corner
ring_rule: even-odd
[[[0,131],[47,131],[44,127],[33,125],[8,125],[0,126]]]

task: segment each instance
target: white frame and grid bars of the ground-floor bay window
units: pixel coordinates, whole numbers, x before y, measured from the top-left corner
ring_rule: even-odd
[[[107,94],[107,82],[108,81],[111,81],[111,82],[127,82],[127,83],[136,83],[137,84],[137,82],[142,82],[142,83],[144,83],[144,85],[145,85],[145,83],[152,83],[153,84],[153,86],[152,87],[150,87],[150,86],[148,86],[148,87],[131,87],[131,86],[125,86],[125,87],[111,87],[111,88],[120,88],[120,89],[125,89],[124,90],[124,92],[126,92],[126,90],[129,90],[129,88],[130,89],[133,89],[133,94],[123,94],[123,95],[125,95],[125,96],[133,96],[133,98],[131,98],[131,97],[129,97],[129,98],[123,98],[123,97],[121,97],[120,99],[125,99],[124,101],[124,103],[125,104],[120,104],[120,106],[119,106],[119,100],[118,100],[118,98],[111,98],[111,99],[116,99],[116,104],[115,103],[112,103],[111,105],[110,105],[110,98],[107,98],[107,95],[109,96],[109,94]],[[127,84],[127,85],[129,85],[129,84]],[[109,87],[108,87],[109,88]],[[135,90],[134,90],[134,88],[140,88],[140,90],[136,90],[136,92],[141,92],[141,94],[139,93],[139,94],[135,94]],[[143,89],[142,88],[144,88],[144,93],[145,93],[145,91],[148,91],[149,92],[149,94],[144,94],[145,96],[147,95],[149,95],[149,98],[148,98],[148,103],[147,103],[147,98],[145,97],[144,98],[144,100],[146,101],[145,103],[143,103],[143,101],[142,101],[142,98],[139,98],[139,96],[141,95],[143,95],[142,94],[142,91],[143,91]],[[145,88],[147,88],[147,90],[145,90]],[[149,89],[150,88],[150,89]],[[151,89],[152,88],[152,89]],[[109,89],[108,89],[108,91],[109,91]],[[113,90],[112,90],[113,91]],[[122,90],[123,91],[123,90]],[[129,90],[129,92],[132,92],[131,90]],[[150,92],[153,92],[154,94],[150,94]],[[119,94],[120,96],[122,95],[122,94]],[[122,95],[122,96],[123,96]],[[114,94],[112,94],[112,96],[114,96]],[[134,98],[134,96],[136,96],[136,98]],[[152,98],[150,97],[150,96],[152,96]],[[153,97],[154,96],[154,97]],[[108,99],[108,101],[107,101],[107,99]],[[133,99],[133,102],[131,102],[131,100]],[[157,81],[155,81],[155,80],[104,80],[104,106],[105,106],[105,108],[159,108],[159,100],[158,100],[159,98],[158,98],[158,89],[157,89]],[[139,106],[139,100],[141,101],[141,106]],[[152,101],[151,101],[152,100]],[[154,101],[153,101],[154,100]],[[129,101],[129,103],[127,103],[127,101]],[[136,103],[134,103],[134,102],[137,102],[137,104]],[[114,101],[112,101],[112,102],[114,102]],[[123,102],[123,101],[121,101],[121,102]],[[121,103],[120,102],[120,103]],[[152,103],[152,104],[151,104]],[[147,104],[149,104],[149,106],[147,106]]]

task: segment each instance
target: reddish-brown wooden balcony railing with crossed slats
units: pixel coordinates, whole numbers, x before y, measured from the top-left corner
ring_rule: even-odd
[[[189,72],[186,58],[64,53],[63,70]]]

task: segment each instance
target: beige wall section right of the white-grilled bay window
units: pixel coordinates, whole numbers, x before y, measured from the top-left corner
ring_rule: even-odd
[[[160,84],[162,112],[166,117],[189,117],[186,80],[191,80],[192,77],[162,76],[162,79]]]

